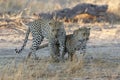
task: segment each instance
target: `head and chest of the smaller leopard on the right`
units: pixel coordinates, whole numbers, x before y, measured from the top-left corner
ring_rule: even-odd
[[[82,50],[85,52],[87,41],[89,40],[90,36],[90,28],[81,27],[78,30],[73,32],[75,42],[76,42],[76,49]]]

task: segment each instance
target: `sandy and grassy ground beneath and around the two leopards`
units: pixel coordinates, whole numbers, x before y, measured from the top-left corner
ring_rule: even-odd
[[[32,43],[30,36],[23,53],[16,54],[25,34],[0,28],[1,80],[120,80],[120,25],[91,29],[85,56],[76,52],[77,61],[53,63],[49,49],[37,51],[39,60],[25,61]],[[47,40],[43,41],[43,44]]]

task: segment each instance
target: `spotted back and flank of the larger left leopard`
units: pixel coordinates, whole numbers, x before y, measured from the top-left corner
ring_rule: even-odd
[[[28,23],[32,36],[42,35],[47,37],[50,33],[49,20],[38,19],[33,22]]]

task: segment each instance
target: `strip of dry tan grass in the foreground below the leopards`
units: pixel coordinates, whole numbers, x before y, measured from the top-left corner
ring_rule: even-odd
[[[27,62],[14,62],[4,66],[1,80],[118,80],[120,79],[120,64],[93,59],[91,62],[80,59],[77,62],[53,63],[48,59]]]

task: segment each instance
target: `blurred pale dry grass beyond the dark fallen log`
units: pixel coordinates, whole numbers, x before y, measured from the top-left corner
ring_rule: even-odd
[[[17,13],[26,7],[26,14],[33,14],[71,8],[79,3],[107,4],[108,12],[120,16],[120,0],[0,0],[0,13]]]

